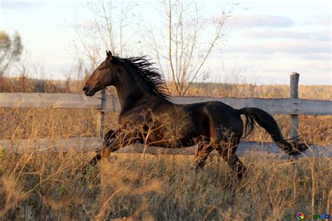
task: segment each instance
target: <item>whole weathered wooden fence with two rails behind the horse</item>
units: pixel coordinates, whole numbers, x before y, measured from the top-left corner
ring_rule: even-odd
[[[296,136],[298,131],[298,115],[332,115],[332,101],[298,99],[298,73],[291,74],[291,98],[289,99],[257,99],[257,98],[214,98],[214,97],[171,97],[170,100],[176,104],[191,104],[202,101],[221,101],[233,106],[243,108],[245,106],[261,108],[270,114],[291,115],[291,135]],[[101,134],[103,134],[104,112],[120,111],[118,97],[97,94],[94,97],[86,97],[84,94],[42,94],[42,93],[0,93],[0,108],[92,108],[101,113]],[[30,142],[30,143],[29,143]],[[96,150],[101,148],[100,138],[67,138],[61,141],[50,141],[48,139],[37,139],[33,141],[1,141],[0,148],[22,152],[27,146],[40,149],[52,149],[67,151],[64,147],[72,146],[78,149]],[[140,146],[123,148],[118,152],[146,152],[151,154],[190,154],[193,155],[195,148],[183,148],[179,150]],[[237,154],[248,155],[248,152],[265,152],[279,155],[280,150],[274,143],[241,142]],[[331,146],[312,145],[303,156],[307,157],[332,157]]]

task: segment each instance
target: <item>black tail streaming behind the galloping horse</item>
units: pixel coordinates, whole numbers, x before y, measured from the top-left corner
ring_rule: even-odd
[[[282,136],[275,119],[264,110],[259,108],[242,108],[239,112],[240,115],[243,114],[247,119],[245,124],[245,136],[248,136],[254,130],[256,121],[259,126],[268,131],[273,141],[289,155],[299,155],[301,152],[307,150],[307,145],[301,142],[298,137],[293,138],[291,143],[287,142]]]

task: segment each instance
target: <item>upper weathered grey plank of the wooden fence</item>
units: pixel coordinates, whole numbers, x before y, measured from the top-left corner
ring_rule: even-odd
[[[0,107],[99,109],[100,97],[100,94],[86,97],[84,94],[0,93]],[[171,97],[170,100],[176,104],[221,101],[233,108],[250,106],[261,108],[271,114],[332,115],[332,101],[324,100],[215,97]],[[119,112],[118,97],[107,95],[104,111]]]

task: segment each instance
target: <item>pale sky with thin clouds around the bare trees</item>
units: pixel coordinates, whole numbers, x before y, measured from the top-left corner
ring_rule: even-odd
[[[130,2],[132,10],[144,16],[141,21],[162,21],[153,9],[159,1]],[[218,13],[215,0],[204,3],[207,13]],[[236,3],[226,24],[227,37],[205,64],[207,81],[222,83],[238,75],[248,83],[289,84],[295,71],[300,73],[300,85],[332,85],[331,0]],[[74,26],[93,19],[85,6],[86,1],[0,0],[0,30],[22,36],[29,62],[44,70],[43,76],[34,77],[65,79],[77,57],[84,57],[74,47],[78,41]],[[211,30],[206,31],[209,35]],[[140,54],[144,53],[148,51],[143,48]],[[132,54],[137,56],[137,50]]]

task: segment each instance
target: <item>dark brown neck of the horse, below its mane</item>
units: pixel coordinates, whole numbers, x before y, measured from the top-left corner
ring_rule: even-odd
[[[130,73],[121,73],[115,86],[122,110],[169,102],[155,94],[141,76],[134,77]]]

